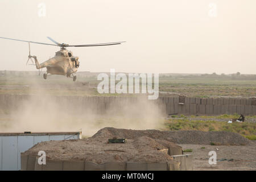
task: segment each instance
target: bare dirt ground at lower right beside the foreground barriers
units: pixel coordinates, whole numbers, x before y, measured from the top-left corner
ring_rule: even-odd
[[[250,146],[210,146],[203,144],[179,144],[179,146],[183,147],[183,150],[192,149],[192,152],[185,154],[193,154],[193,170],[256,170],[256,142]],[[209,151],[216,151],[216,165],[209,164]],[[220,159],[226,160],[218,161]],[[228,161],[230,159],[231,161]]]

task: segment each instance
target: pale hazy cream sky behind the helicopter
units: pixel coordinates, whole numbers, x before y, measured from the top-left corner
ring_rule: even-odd
[[[40,3],[46,5],[46,16],[38,15]],[[7,38],[126,41],[69,48],[80,57],[79,71],[256,74],[255,0],[1,0],[0,17],[0,36]],[[0,39],[0,49],[0,70],[36,70],[26,66],[27,43]],[[58,50],[31,44],[40,63]]]

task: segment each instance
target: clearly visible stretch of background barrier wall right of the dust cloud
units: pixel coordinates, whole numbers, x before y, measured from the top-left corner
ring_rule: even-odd
[[[160,98],[167,114],[256,114],[256,98]]]

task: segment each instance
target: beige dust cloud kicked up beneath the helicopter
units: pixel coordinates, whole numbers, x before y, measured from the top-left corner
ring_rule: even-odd
[[[54,84],[52,89],[61,90],[62,86]],[[102,113],[97,102],[88,101],[82,96],[52,96],[46,86],[38,82],[33,82],[30,90],[31,94],[26,99],[15,102],[18,105],[11,110],[10,125],[3,132],[81,130],[82,135],[89,137],[102,127],[159,129],[163,123],[158,105],[146,97],[133,102],[124,102],[120,97],[115,97],[115,102]]]

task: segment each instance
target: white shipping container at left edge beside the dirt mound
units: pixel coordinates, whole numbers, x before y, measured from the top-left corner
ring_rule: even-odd
[[[0,171],[20,170],[20,153],[50,140],[81,139],[81,132],[0,133]]]

